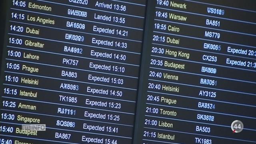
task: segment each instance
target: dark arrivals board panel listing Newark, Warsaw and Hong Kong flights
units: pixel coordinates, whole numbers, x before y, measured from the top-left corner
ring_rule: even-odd
[[[256,143],[255,9],[155,2],[140,142]]]

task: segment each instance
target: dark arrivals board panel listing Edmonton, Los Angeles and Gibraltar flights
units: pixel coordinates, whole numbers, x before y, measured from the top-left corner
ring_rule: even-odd
[[[9,2],[1,144],[131,144],[146,1]]]

